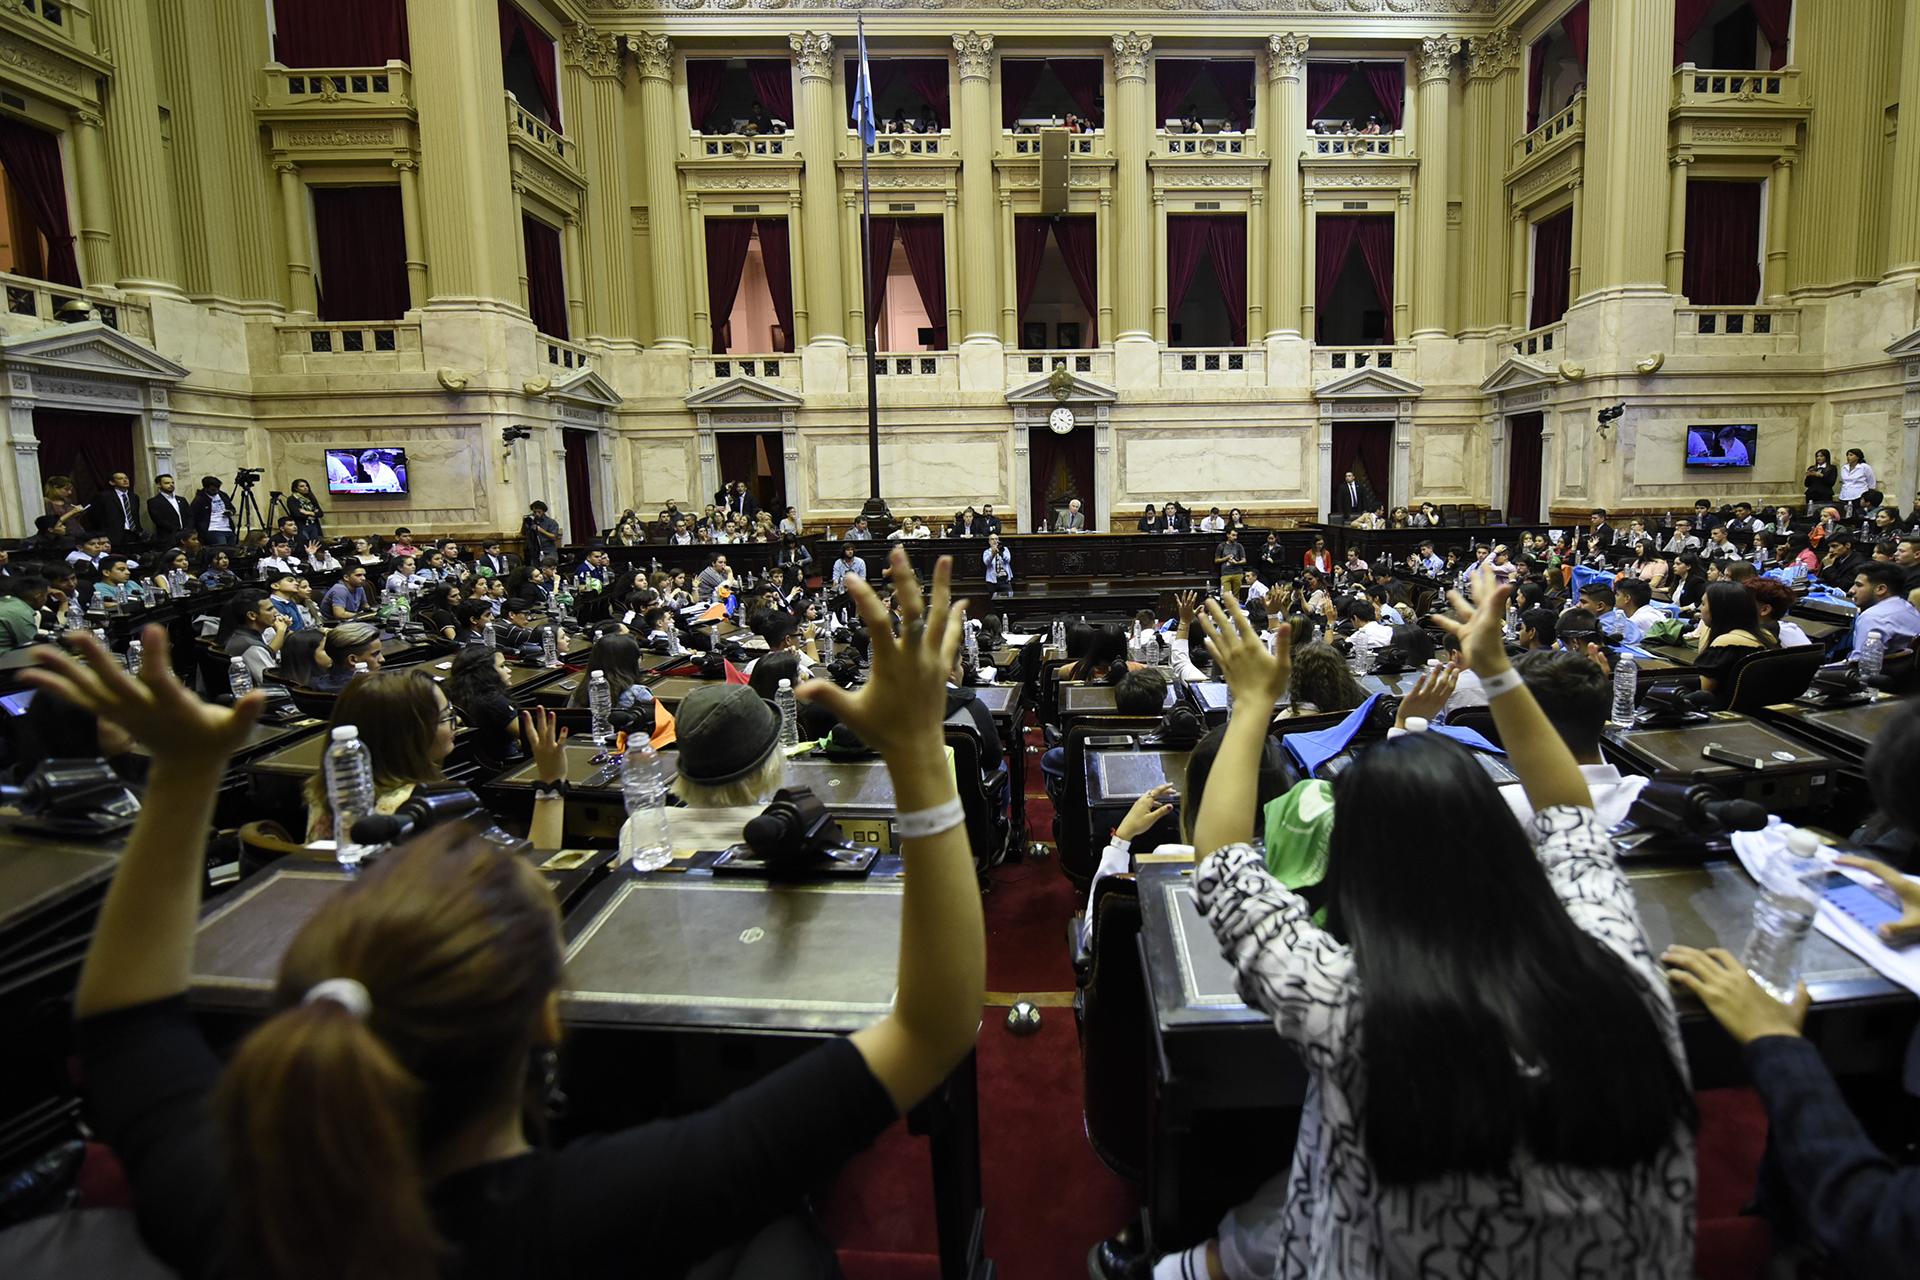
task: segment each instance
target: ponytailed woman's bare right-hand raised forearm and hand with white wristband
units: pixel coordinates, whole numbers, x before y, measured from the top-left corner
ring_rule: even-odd
[[[900,1111],[931,1094],[968,1055],[987,998],[979,885],[941,729],[947,674],[960,652],[964,622],[962,608],[952,604],[952,557],[941,557],[933,566],[933,599],[924,603],[906,551],[893,549],[889,574],[900,604],[899,637],[874,587],[849,574],[847,591],[866,624],[874,676],[858,693],[828,679],[810,679],[797,691],[881,754],[902,818],[950,810],[941,831],[902,841],[906,894],[899,996],[893,1013],[852,1034],[854,1048]]]

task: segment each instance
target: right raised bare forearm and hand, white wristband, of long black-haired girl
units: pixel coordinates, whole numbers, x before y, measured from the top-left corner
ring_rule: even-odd
[[[1500,729],[1500,743],[1507,748],[1507,764],[1521,775],[1528,804],[1534,810],[1555,804],[1594,808],[1586,777],[1559,729],[1548,722],[1546,712],[1534,702],[1532,691],[1521,683],[1519,672],[1507,662],[1501,622],[1513,589],[1498,585],[1494,572],[1486,566],[1480,566],[1471,581],[1473,603],[1459,591],[1448,593],[1459,618],[1446,614],[1436,614],[1436,618],[1440,618],[1440,626],[1459,637],[1459,651],[1465,654],[1469,670],[1480,677],[1480,687],[1486,689],[1494,727]]]

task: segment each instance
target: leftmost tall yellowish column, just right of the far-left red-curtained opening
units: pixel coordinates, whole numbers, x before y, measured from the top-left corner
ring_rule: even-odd
[[[154,10],[148,0],[98,0],[94,35],[100,48],[113,50],[106,121],[121,276],[111,284],[184,297],[179,226],[169,196],[173,182],[159,138]]]

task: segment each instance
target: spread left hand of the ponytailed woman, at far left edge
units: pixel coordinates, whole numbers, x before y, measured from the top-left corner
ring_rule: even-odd
[[[44,645],[35,651],[40,666],[21,672],[21,681],[58,693],[127,729],[136,743],[156,748],[156,768],[223,764],[246,743],[267,706],[261,691],[246,695],[232,708],[204,702],[190,693],[173,674],[167,629],[159,626],[150,626],[140,635],[146,660],[136,677],[88,631],[67,631],[67,643],[86,660],[77,662]]]

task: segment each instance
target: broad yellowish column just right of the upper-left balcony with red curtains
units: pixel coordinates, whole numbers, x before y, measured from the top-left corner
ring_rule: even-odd
[[[499,19],[472,0],[407,0],[420,115],[420,213],[434,299],[520,305]]]

